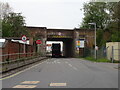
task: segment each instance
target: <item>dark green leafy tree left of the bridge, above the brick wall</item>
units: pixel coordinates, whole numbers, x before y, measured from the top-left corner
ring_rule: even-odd
[[[3,37],[20,37],[28,35],[25,20],[21,13],[9,13],[2,21]]]

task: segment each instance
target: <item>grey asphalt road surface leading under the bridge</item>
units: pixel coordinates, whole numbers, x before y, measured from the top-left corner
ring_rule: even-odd
[[[118,88],[118,64],[49,58],[11,76],[2,88]]]

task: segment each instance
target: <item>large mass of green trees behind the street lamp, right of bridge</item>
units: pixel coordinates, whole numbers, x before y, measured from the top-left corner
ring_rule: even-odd
[[[97,45],[107,41],[120,41],[120,2],[89,2],[84,4],[83,22],[80,28],[89,28],[88,23],[97,24]],[[93,26],[91,26],[93,28]]]

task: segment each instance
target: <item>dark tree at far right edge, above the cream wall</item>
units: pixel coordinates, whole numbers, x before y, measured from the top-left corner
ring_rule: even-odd
[[[107,27],[111,34],[109,41],[120,42],[120,2],[110,2],[107,5],[111,16],[110,23]]]

